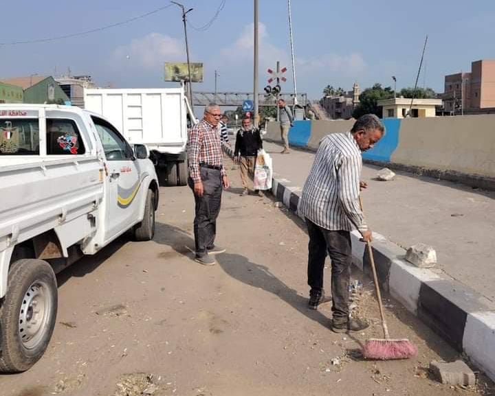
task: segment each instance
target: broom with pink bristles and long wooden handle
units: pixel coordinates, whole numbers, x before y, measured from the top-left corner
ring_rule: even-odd
[[[362,210],[361,196],[360,205]],[[380,286],[378,285],[378,277],[375,268],[375,259],[373,258],[373,250],[371,249],[371,243],[366,242],[366,246],[368,247],[368,253],[371,261],[371,272],[373,272],[373,281],[375,283],[380,316],[382,316],[384,338],[370,338],[369,340],[366,340],[362,354],[365,359],[370,360],[408,359],[412,356],[416,356],[417,348],[407,338],[392,339],[388,334],[388,327],[385,321],[385,314],[382,305],[382,294],[380,294]]]

